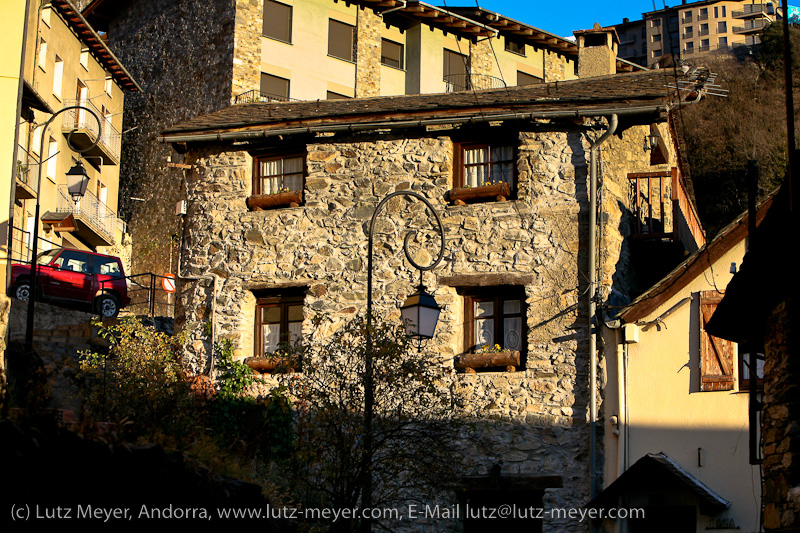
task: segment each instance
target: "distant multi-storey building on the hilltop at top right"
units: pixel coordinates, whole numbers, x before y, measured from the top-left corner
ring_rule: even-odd
[[[684,0],[643,13],[640,20],[623,19],[614,27],[620,38],[620,57],[640,65],[664,66],[672,58],[692,60],[708,52],[750,53],[779,13],[777,1]]]

